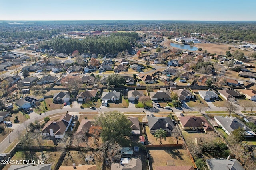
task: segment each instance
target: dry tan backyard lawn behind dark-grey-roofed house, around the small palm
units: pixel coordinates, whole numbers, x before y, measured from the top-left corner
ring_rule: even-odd
[[[154,135],[150,133],[149,127],[145,126],[145,128],[146,128],[148,142],[150,142],[150,144],[160,144],[160,141],[159,140],[156,141],[156,137],[154,137]],[[162,144],[176,144],[176,143],[177,143],[177,139],[175,137],[171,137],[170,135],[166,137],[166,141],[164,139],[162,140]],[[183,143],[183,140],[178,140],[178,143]]]

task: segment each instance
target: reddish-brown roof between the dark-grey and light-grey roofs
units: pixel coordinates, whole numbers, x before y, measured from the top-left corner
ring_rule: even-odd
[[[189,116],[181,116],[178,117],[180,119],[180,123],[183,127],[203,127],[205,131],[213,131],[212,125],[206,121],[204,116],[195,116],[195,117],[189,117]],[[202,125],[202,123],[204,123]]]

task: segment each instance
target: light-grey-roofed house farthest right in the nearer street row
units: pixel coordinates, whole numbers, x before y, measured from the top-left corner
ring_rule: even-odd
[[[214,120],[222,127],[222,129],[228,134],[231,135],[232,131],[241,128],[245,131],[245,137],[254,137],[256,134],[247,127],[242,121],[237,117],[224,117],[224,116],[214,116]]]

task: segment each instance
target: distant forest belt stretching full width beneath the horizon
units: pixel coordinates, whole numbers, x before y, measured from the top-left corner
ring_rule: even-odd
[[[170,36],[199,33],[200,39],[211,42],[232,40],[256,43],[255,21],[0,21],[0,37],[50,38],[66,31],[156,31]]]

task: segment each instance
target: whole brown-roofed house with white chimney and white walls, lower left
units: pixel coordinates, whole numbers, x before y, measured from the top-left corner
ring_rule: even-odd
[[[72,115],[65,114],[58,121],[48,121],[41,131],[43,136],[62,139],[72,122]]]

